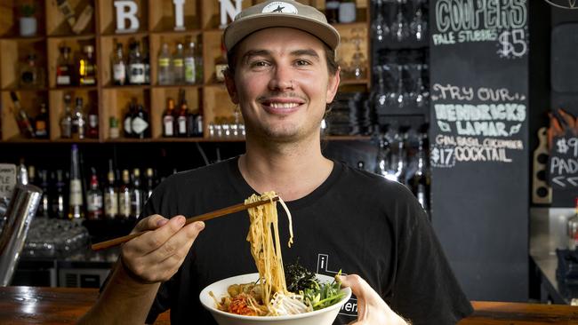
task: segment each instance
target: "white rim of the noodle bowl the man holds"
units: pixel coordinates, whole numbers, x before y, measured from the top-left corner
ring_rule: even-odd
[[[325,274],[319,274],[316,273],[315,274],[317,276],[317,278],[320,281],[328,281],[329,279],[333,279],[333,277],[329,276],[329,275],[325,275]],[[282,315],[282,316],[248,316],[248,315],[239,315],[237,313],[228,313],[228,312],[223,312],[219,309],[217,309],[216,307],[214,307],[213,305],[205,305],[205,302],[203,301],[203,296],[209,296],[209,287],[212,287],[214,285],[216,285],[217,283],[223,282],[223,281],[235,281],[235,279],[239,278],[245,278],[245,277],[251,277],[251,276],[255,276],[255,277],[259,277],[259,273],[245,273],[245,274],[240,274],[240,275],[236,275],[236,276],[231,276],[229,278],[225,278],[222,279],[220,281],[214,281],[213,283],[209,284],[208,286],[205,287],[205,289],[201,290],[201,293],[199,294],[199,300],[201,302],[201,305],[203,305],[205,307],[206,310],[208,310],[211,313],[218,313],[221,314],[223,316],[227,316],[227,317],[232,317],[238,320],[245,320],[245,321],[287,321],[287,320],[299,320],[301,318],[306,318],[306,317],[311,317],[314,315],[317,315],[319,313],[328,313],[330,311],[333,311],[334,309],[341,309],[342,305],[345,305],[345,303],[347,303],[349,301],[349,298],[351,297],[351,288],[349,287],[345,287],[345,288],[341,288],[341,292],[345,292],[345,296],[341,298],[340,301],[338,301],[337,303],[330,305],[328,307],[325,307],[323,309],[319,309],[319,310],[315,310],[313,312],[307,312],[307,313],[297,313],[297,314],[293,314],[293,315]],[[238,283],[238,282],[237,282]],[[211,301],[213,301],[213,298],[211,298]]]

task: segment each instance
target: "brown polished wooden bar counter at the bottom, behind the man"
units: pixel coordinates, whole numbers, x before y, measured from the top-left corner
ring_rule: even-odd
[[[94,303],[98,289],[0,288],[0,324],[71,324]],[[578,324],[578,307],[475,301],[475,312],[460,325]],[[156,324],[169,324],[169,313]]]

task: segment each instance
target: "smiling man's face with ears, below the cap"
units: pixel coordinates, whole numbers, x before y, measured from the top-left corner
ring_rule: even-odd
[[[238,45],[235,70],[227,87],[250,135],[281,142],[318,137],[339,73],[329,75],[317,37],[294,28],[257,31]]]

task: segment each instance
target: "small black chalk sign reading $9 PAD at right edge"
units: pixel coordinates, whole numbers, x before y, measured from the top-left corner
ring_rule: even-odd
[[[558,189],[578,189],[578,138],[554,138],[550,149],[550,185]]]

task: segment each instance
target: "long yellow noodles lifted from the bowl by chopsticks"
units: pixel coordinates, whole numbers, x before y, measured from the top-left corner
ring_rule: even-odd
[[[270,200],[267,204],[262,204],[249,209],[249,234],[247,242],[251,244],[251,255],[255,260],[262,286],[262,300],[270,312],[276,313],[276,308],[271,305],[271,298],[274,294],[280,293],[288,295],[285,284],[285,271],[283,269],[283,258],[281,257],[281,245],[279,241],[279,228],[277,218],[277,202],[273,197],[275,192],[266,192],[261,196],[253,194],[245,200],[245,204]],[[285,202],[279,198],[279,202],[289,218],[289,247],[293,243],[293,225],[291,213],[287,209]],[[272,233],[271,233],[272,231]],[[275,242],[273,242],[275,240]]]

